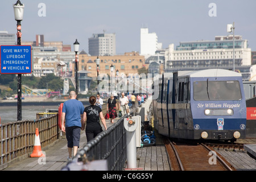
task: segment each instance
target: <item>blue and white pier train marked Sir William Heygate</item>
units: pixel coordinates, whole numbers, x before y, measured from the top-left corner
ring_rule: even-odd
[[[180,71],[158,75],[154,81],[159,82],[158,97],[152,101],[154,125],[160,134],[232,142],[245,138],[241,73],[225,69]]]

